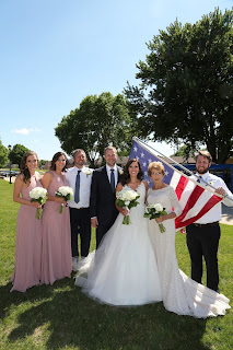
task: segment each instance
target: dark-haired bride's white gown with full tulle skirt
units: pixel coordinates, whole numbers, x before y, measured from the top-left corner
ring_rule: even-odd
[[[139,205],[130,209],[129,225],[119,213],[97,250],[79,262],[75,284],[101,303],[143,305],[162,301],[154,252],[143,218],[145,187],[141,183]]]

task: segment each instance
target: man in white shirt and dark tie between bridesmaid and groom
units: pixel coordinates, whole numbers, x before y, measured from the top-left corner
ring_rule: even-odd
[[[73,189],[73,198],[69,200],[72,266],[77,270],[79,260],[78,234],[81,240],[81,258],[89,255],[91,242],[90,191],[93,170],[84,166],[85,152],[81,149],[74,151],[74,166],[69,168],[66,178]]]

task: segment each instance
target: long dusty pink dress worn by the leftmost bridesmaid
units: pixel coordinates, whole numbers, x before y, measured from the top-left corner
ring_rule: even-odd
[[[28,187],[23,187],[23,199],[31,200],[30,191],[42,187],[36,175],[31,177]],[[11,281],[11,292],[25,292],[40,283],[42,276],[42,219],[36,219],[36,208],[21,205],[16,219],[15,268]]]

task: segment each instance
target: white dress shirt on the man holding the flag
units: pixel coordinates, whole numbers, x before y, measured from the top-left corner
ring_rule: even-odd
[[[218,187],[222,187],[224,188],[224,190],[226,191],[228,196],[232,199],[229,198],[223,198],[222,201],[218,202],[215,206],[213,206],[203,217],[201,217],[200,219],[198,219],[197,221],[195,221],[196,223],[210,223],[210,222],[215,222],[215,221],[220,221],[222,218],[222,202],[223,205],[228,206],[228,207],[232,207],[233,206],[233,195],[230,191],[230,189],[228,188],[228,186],[225,185],[224,180],[219,177],[215,176],[209,172],[205,173],[205,174],[198,174],[199,176],[201,176],[201,180],[200,184],[201,185],[206,185],[202,179],[205,182],[207,182],[208,184],[212,185],[213,187],[218,188]],[[190,178],[194,178],[197,180],[197,177],[191,175]],[[207,185],[208,186],[208,185]]]

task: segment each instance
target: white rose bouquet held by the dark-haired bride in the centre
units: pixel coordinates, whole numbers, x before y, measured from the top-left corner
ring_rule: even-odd
[[[137,207],[137,205],[139,205],[139,202],[137,201],[140,195],[136,190],[123,188],[120,191],[116,192],[116,205],[120,208],[130,210],[132,207]],[[128,225],[130,223],[128,214],[124,217],[123,223],[125,225]]]

